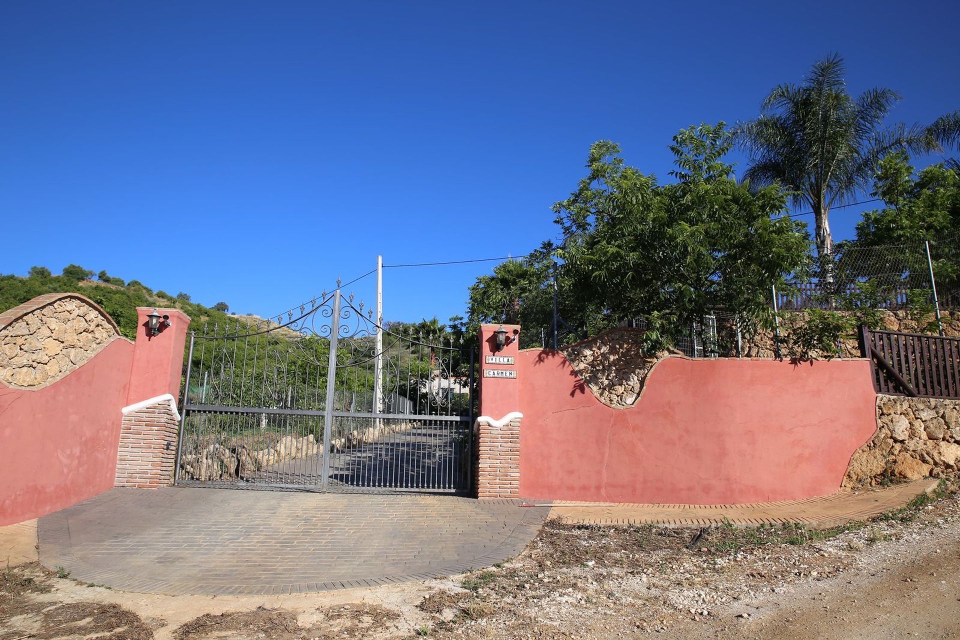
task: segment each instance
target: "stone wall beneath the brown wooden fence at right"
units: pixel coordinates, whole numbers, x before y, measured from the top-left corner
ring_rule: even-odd
[[[876,396],[876,434],[853,454],[843,486],[920,480],[960,464],[960,400]]]

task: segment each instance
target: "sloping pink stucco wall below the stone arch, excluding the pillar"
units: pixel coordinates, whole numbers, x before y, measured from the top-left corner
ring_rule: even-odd
[[[113,486],[133,344],[113,340],[54,384],[0,384],[0,526],[76,504]]]

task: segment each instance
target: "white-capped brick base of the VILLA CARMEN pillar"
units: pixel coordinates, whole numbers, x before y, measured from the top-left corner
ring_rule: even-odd
[[[477,497],[520,497],[520,420],[522,414],[501,420],[481,415],[476,423]]]

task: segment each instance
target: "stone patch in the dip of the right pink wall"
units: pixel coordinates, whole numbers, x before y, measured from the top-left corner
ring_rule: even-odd
[[[636,329],[613,329],[561,351],[597,399],[610,407],[631,407],[650,369],[667,355],[648,356],[641,346],[640,333]]]

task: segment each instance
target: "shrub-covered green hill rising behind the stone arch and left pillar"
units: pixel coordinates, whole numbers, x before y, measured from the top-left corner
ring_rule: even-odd
[[[45,267],[34,267],[27,276],[0,275],[0,311],[6,311],[42,294],[72,293],[86,296],[103,307],[110,318],[120,327],[127,338],[136,337],[136,307],[177,308],[190,317],[190,328],[200,331],[204,323],[237,321],[237,316],[228,314],[228,305],[218,302],[214,307],[193,302],[189,295],[180,293],[171,296],[163,291],[154,292],[137,280],[124,282],[100,272],[99,279],[91,279],[93,272],[77,265],[70,265],[60,275],[50,273]],[[255,317],[245,316],[241,322],[255,322]]]

